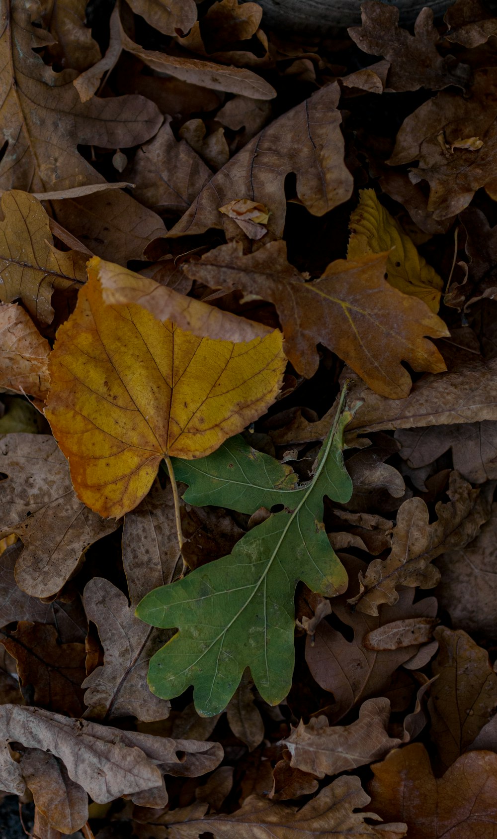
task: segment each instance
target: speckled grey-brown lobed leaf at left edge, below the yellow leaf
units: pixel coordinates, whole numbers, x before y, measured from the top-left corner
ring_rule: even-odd
[[[96,539],[112,533],[104,521],[75,496],[65,457],[48,435],[7,435],[0,440],[2,471],[0,538],[15,533],[24,550],[16,580],[33,597],[50,597],[75,571]]]

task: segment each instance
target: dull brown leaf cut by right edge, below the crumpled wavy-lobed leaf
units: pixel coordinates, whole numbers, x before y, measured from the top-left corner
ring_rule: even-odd
[[[435,593],[440,607],[447,609],[454,627],[489,638],[494,633],[497,598],[496,524],[497,506],[492,504],[489,521],[482,524],[476,539],[437,559],[442,581]]]

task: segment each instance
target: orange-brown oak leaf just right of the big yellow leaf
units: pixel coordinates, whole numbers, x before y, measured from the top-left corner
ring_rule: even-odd
[[[240,243],[231,242],[204,254],[199,262],[188,263],[184,271],[211,287],[242,289],[274,303],[287,357],[306,378],[318,367],[320,341],[370,387],[395,399],[406,397],[411,388],[402,360],[432,373],[445,368],[424,336],[441,337],[448,331],[421,300],[391,288],[384,279],[385,266],[386,254],[338,259],[320,279],[304,283],[287,262],[284,242],[270,242],[247,255]]]

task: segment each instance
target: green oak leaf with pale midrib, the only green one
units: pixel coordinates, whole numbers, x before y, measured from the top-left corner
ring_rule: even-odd
[[[150,591],[138,604],[136,613],[144,622],[179,628],[150,661],[148,685],[157,696],[171,699],[193,685],[197,711],[210,717],[225,709],[246,667],[267,702],[277,705],[287,696],[293,676],[293,599],[298,581],[324,597],[334,597],[347,586],[347,574],[324,531],[323,497],[345,503],[352,494],[342,455],[344,426],[351,417],[349,410],[337,414],[312,481],[299,489],[287,488],[295,478],[266,455],[256,458],[263,464],[261,473],[266,467],[267,472],[263,477],[259,473],[255,486],[255,472],[241,466],[246,466],[250,446],[245,449],[239,438],[234,444],[239,446],[236,461],[228,445],[220,455],[218,450],[203,458],[200,472],[189,472],[191,492],[196,492],[198,480],[199,493],[215,498],[217,504],[243,512],[276,503],[285,509],[251,529],[229,556]],[[226,452],[231,455],[227,459]],[[236,468],[230,466],[235,462]],[[240,490],[244,474],[245,496]],[[186,472],[181,475],[185,480]],[[228,477],[233,475],[237,489],[231,496]],[[266,487],[269,475],[279,488],[274,483]],[[246,505],[234,507],[235,498],[243,497]]]

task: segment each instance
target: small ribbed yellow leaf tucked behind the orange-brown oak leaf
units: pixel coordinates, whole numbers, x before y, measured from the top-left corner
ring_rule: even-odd
[[[374,190],[360,190],[360,202],[350,216],[348,259],[390,250],[386,279],[404,294],[413,294],[435,314],[440,306],[443,280],[428,265],[398,221],[378,201]],[[391,249],[393,248],[393,249]]]

